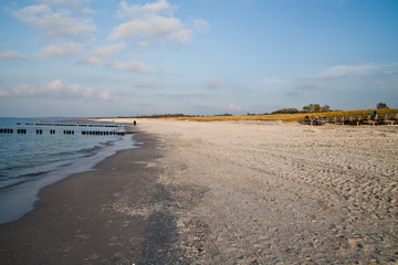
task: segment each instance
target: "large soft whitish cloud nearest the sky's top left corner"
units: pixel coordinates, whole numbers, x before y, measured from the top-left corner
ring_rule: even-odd
[[[78,39],[97,30],[92,20],[73,18],[71,11],[64,9],[53,11],[46,4],[29,6],[12,14],[50,39]]]

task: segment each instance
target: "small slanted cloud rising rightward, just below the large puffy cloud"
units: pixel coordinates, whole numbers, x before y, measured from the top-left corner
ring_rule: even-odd
[[[123,52],[127,49],[127,45],[123,42],[100,46],[93,49],[88,55],[78,60],[78,63],[84,64],[101,64],[112,60],[116,53]]]

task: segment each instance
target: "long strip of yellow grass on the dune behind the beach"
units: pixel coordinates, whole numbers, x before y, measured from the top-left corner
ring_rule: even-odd
[[[337,110],[327,113],[311,113],[311,114],[269,114],[269,115],[242,115],[242,116],[209,116],[209,117],[176,117],[167,119],[177,120],[192,120],[192,121],[224,121],[224,120],[283,120],[297,121],[303,120],[305,116],[354,116],[354,115],[370,115],[374,109],[358,109],[358,110]],[[398,114],[398,108],[377,109],[377,114]]]

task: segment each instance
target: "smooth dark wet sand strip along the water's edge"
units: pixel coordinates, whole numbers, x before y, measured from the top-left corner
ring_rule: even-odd
[[[121,198],[146,204],[156,193],[158,172],[146,162],[159,157],[157,139],[137,132],[135,140],[143,146],[117,151],[92,171],[41,189],[33,211],[0,225],[0,263],[124,264],[143,259],[140,245],[148,237],[148,220],[126,219],[113,211]]]

